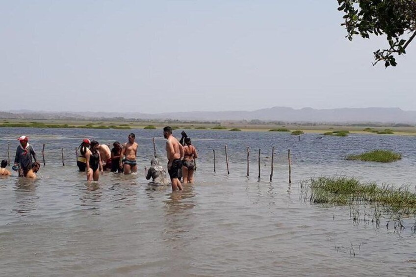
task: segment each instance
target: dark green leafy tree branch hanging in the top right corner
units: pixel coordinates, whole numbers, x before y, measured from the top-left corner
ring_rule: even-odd
[[[386,67],[396,66],[395,55],[405,54],[416,36],[416,0],[338,0],[338,5],[345,13],[341,25],[346,37],[386,35],[390,48],[376,50],[373,65],[383,61]]]

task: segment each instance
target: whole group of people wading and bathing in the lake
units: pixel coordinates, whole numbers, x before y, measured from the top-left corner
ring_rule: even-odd
[[[191,139],[182,131],[182,139],[178,141],[172,135],[172,128],[163,128],[163,136],[166,139],[167,169],[172,184],[172,191],[182,190],[183,183],[192,183],[195,171],[195,159],[198,157]],[[113,143],[110,151],[105,144],[89,139],[84,139],[77,149],[77,166],[80,172],[85,172],[87,181],[98,181],[100,173],[111,171],[115,173],[131,174],[137,172],[138,144],[134,141],[136,136],[130,133],[128,141],[121,145],[118,141]],[[36,160],[36,152],[28,143],[27,136],[18,138],[20,145],[16,149],[14,166],[12,169],[19,173],[19,177],[36,178],[40,163]],[[6,169],[7,160],[1,161],[0,176],[10,176]],[[166,171],[154,157],[149,170],[145,168],[146,179],[152,178],[150,185],[167,185]]]

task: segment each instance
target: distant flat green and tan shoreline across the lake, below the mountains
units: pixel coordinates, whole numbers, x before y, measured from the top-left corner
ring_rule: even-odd
[[[323,134],[334,130],[347,130],[355,134],[375,134],[364,131],[366,126],[342,126],[342,125],[273,125],[273,124],[247,124],[241,122],[226,122],[221,124],[213,123],[188,123],[181,121],[174,122],[129,122],[129,121],[91,121],[91,120],[22,120],[22,119],[0,119],[0,128],[4,127],[32,127],[32,128],[82,128],[82,129],[162,129],[164,126],[171,126],[174,129],[194,130],[240,130],[264,132],[271,129],[285,129],[289,131],[303,130],[305,133]],[[372,126],[374,131],[390,129],[396,135],[416,135],[415,126]],[[277,131],[277,133],[279,133]],[[287,133],[287,132],[286,132]]]

